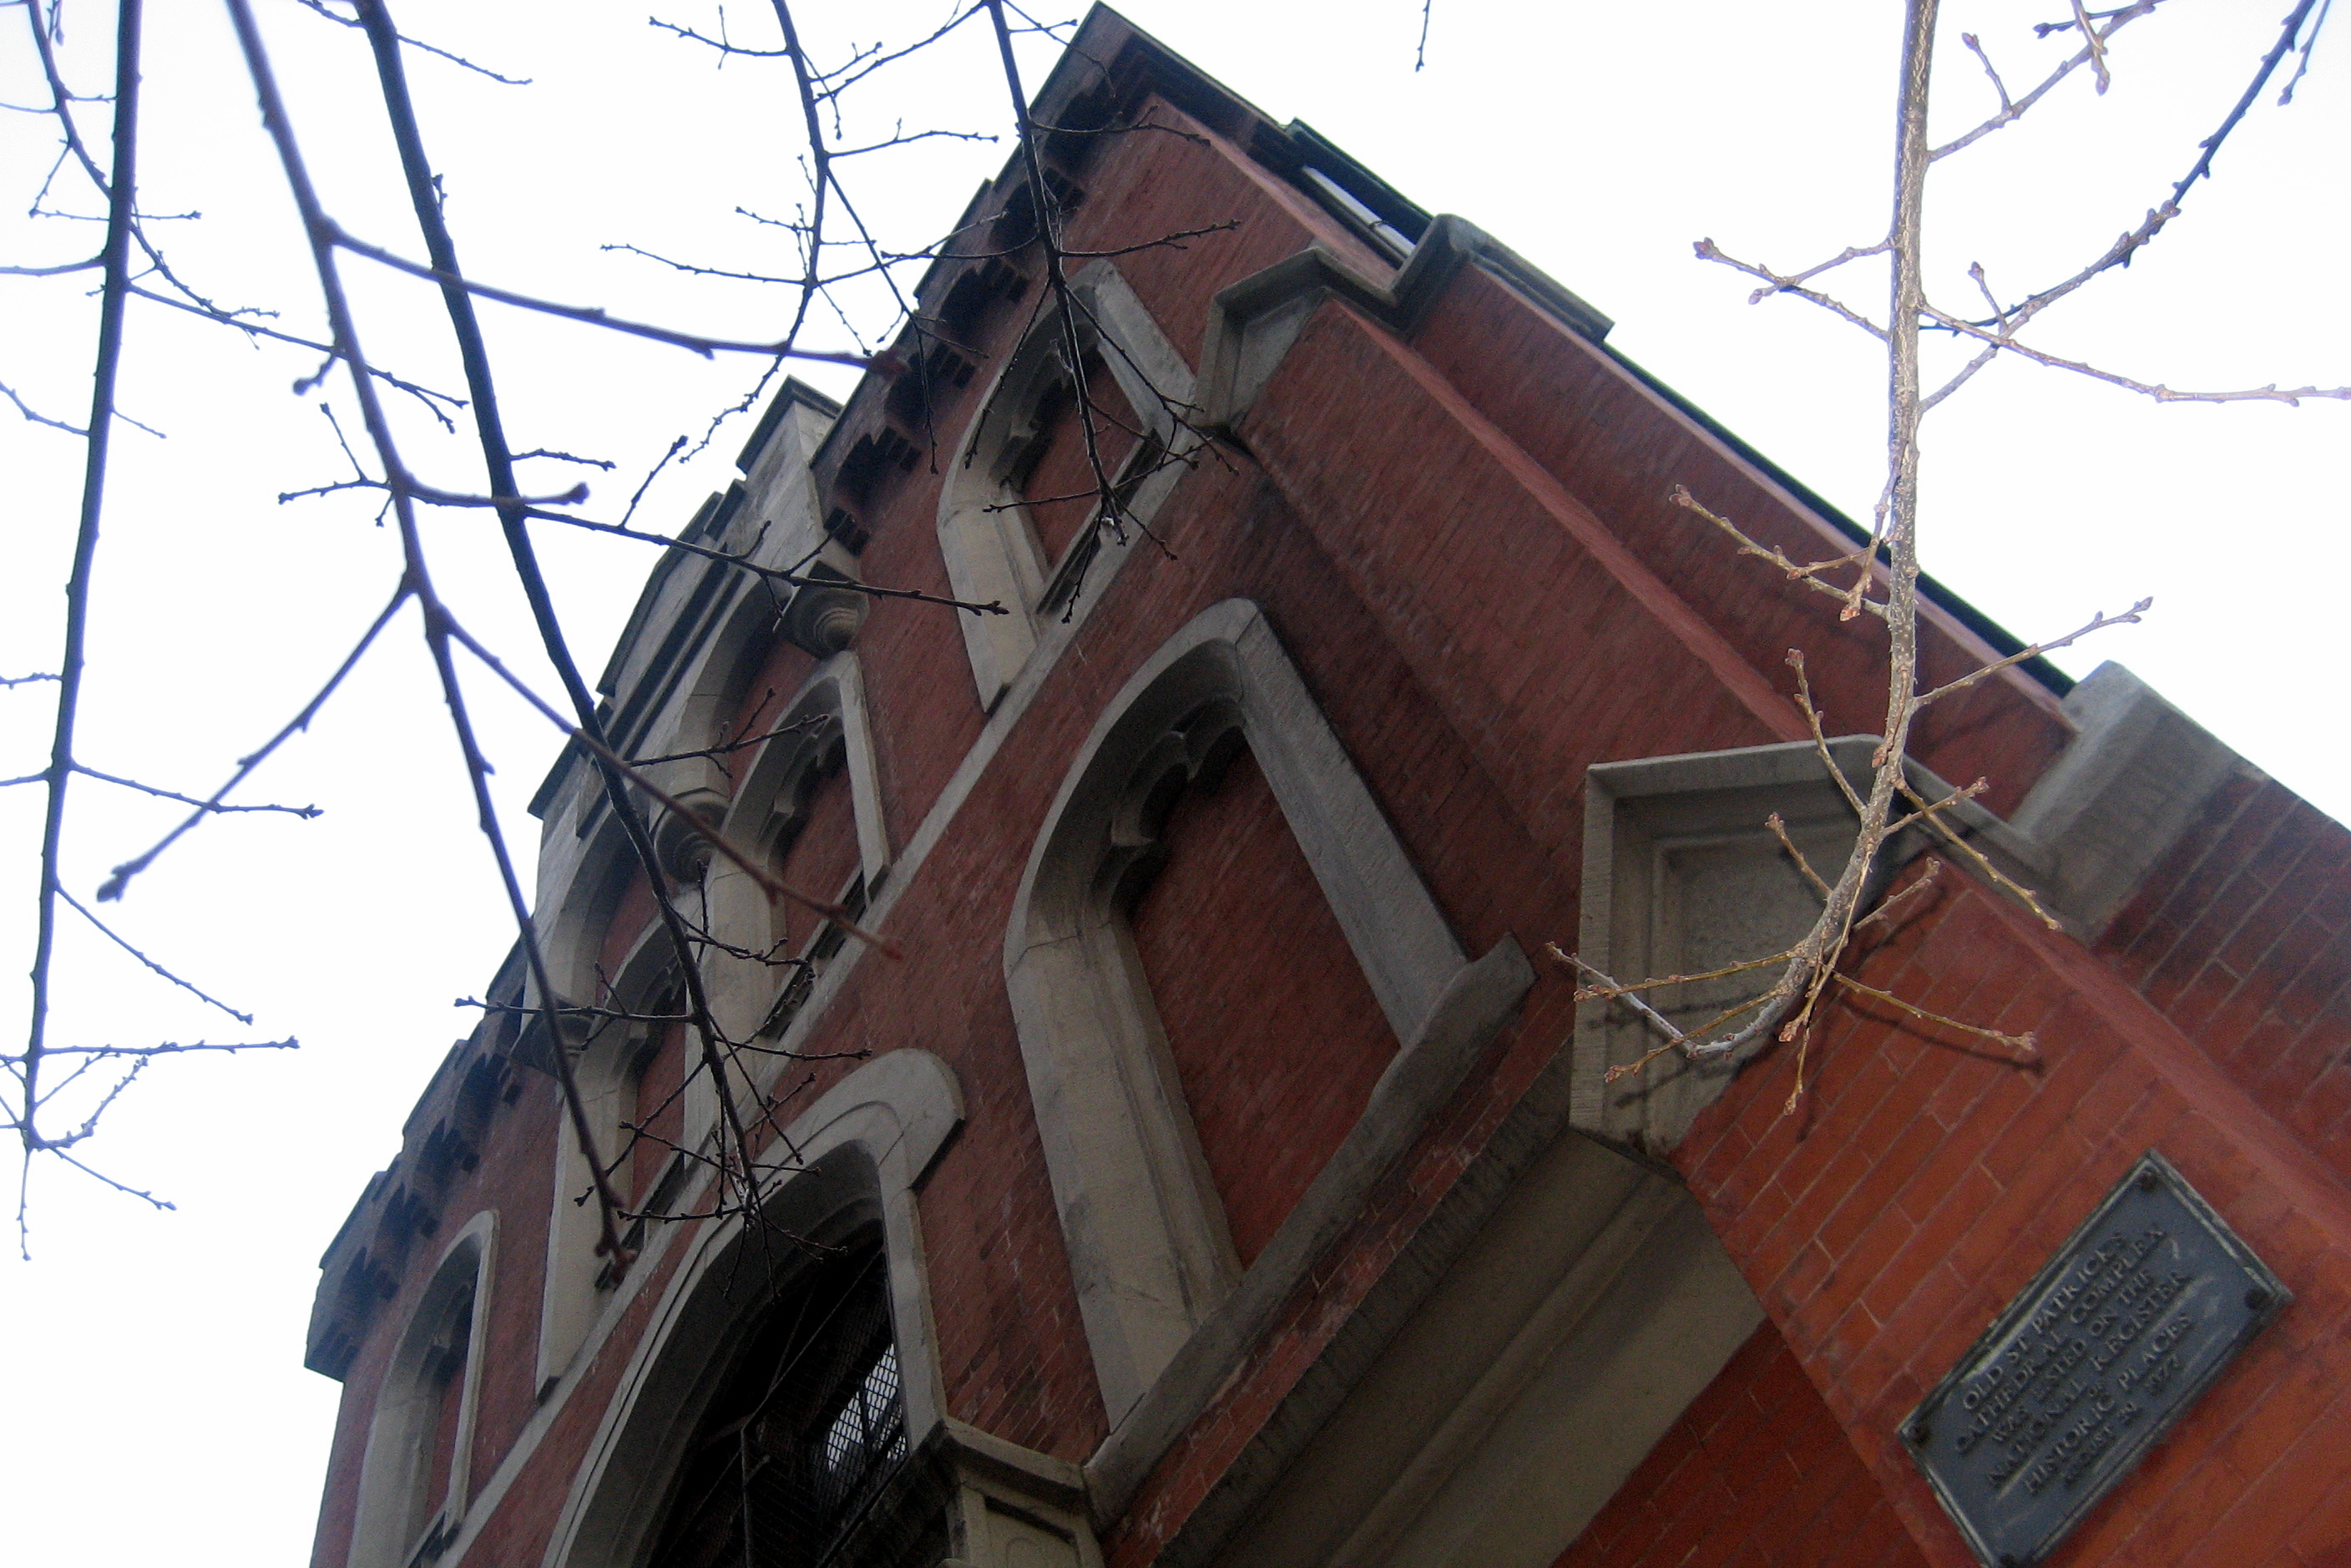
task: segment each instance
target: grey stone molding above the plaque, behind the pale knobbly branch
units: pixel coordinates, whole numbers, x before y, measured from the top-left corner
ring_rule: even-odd
[[[1977,802],[1947,809],[1942,820],[2001,875],[2034,889],[2071,936],[2092,943],[2212,790],[2248,764],[2114,663],[2083,679],[2064,708],[2081,733],[2034,783],[2015,823]],[[1876,743],[1876,736],[1829,741],[1855,788],[1867,788]],[[1951,795],[1949,783],[1916,762],[1909,780],[1925,799]],[[1594,764],[1585,776],[1578,933],[1585,961],[1629,983],[1700,973],[1803,936],[1820,900],[1763,825],[1773,813],[1822,875],[1853,849],[1853,809],[1810,741]],[[1923,830],[1897,837],[1878,865],[1878,886],[1909,858],[1935,851]],[[1963,856],[1944,858],[1958,872],[1975,870]],[[1686,1016],[1676,1025],[1693,1027],[1756,994],[1775,973],[1674,987],[1657,1004],[1667,1016],[1679,1009]],[[1761,1048],[1756,1041],[1735,1058],[1704,1063],[1660,1056],[1639,1077],[1606,1081],[1610,1067],[1641,1058],[1660,1039],[1622,1004],[1578,1006],[1570,1114],[1580,1131],[1662,1157]]]

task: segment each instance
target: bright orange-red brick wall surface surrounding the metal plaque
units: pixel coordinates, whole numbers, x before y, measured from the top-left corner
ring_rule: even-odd
[[[2297,1526],[2351,1483],[2351,1197],[2332,1171],[2097,959],[1972,884],[1857,973],[2041,1048],[2020,1063],[1846,1001],[1791,1114],[1780,1046],[1676,1159],[1928,1561],[1972,1559],[1897,1420],[2146,1147],[2297,1300],[2052,1561],[2304,1561]]]

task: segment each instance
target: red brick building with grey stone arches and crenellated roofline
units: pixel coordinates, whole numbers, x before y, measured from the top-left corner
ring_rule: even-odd
[[[1653,1037],[1538,954],[1784,943],[1763,818],[1850,842],[1787,649],[1831,722],[1881,710],[1871,623],[1667,496],[1808,559],[1853,524],[1117,14],[1037,103],[1077,331],[1013,165],[915,371],[785,388],[684,534],[1013,614],[670,552],[604,675],[632,757],[766,736],[665,790],[905,957],[661,825],[766,1222],[611,1269],[552,1046],[494,1013],[324,1258],[317,1568],[1956,1568],[1904,1434],[2005,1408],[1928,1396],[2151,1150],[2292,1300],[2048,1561],[2351,1561],[2344,827],[2114,665],[2005,670],[1916,757],[1991,780],[1968,832],[2064,931],[1951,865],[1848,966],[2038,1053],[1843,992],[1791,1112],[1780,1046],[1608,1081]],[[1176,134],[1086,134],[1138,122]],[[1147,531],[1067,498],[1070,336]],[[2012,649],[1933,595],[1930,682]],[[675,1013],[592,769],[536,809],[562,1001]],[[564,1048],[625,1201],[708,1211],[684,1030]],[[2027,1432],[2017,1486],[2128,1420]]]

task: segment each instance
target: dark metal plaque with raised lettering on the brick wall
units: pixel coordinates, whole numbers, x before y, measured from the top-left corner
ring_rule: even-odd
[[[1902,1422],[1991,1568],[2081,1523],[2292,1293],[2154,1150]]]

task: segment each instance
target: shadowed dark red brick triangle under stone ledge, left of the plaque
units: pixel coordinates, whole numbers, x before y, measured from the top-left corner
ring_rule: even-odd
[[[1925,1568],[1770,1324],[1554,1568]]]

